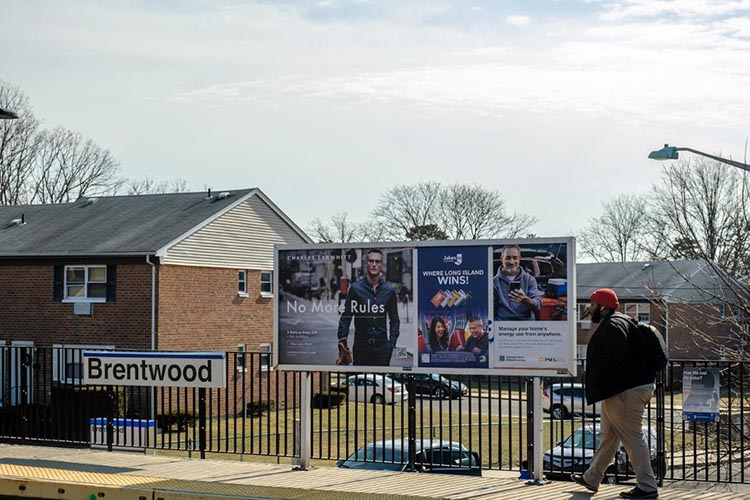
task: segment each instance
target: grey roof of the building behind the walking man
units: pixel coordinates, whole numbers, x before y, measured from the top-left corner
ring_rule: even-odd
[[[720,276],[723,275],[723,279]],[[611,288],[620,301],[664,297],[670,302],[711,302],[745,290],[710,262],[698,260],[606,262],[576,265],[579,301],[597,288]],[[727,283],[734,283],[730,287]]]

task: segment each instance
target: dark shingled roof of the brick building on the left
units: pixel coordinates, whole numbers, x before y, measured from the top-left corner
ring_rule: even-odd
[[[0,258],[154,254],[256,194],[265,199],[251,188],[0,206]]]

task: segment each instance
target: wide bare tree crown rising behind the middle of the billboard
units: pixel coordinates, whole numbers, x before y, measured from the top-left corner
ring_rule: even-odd
[[[445,235],[447,239],[516,237],[536,218],[508,213],[502,195],[477,184],[424,182],[394,186],[380,199],[375,215],[394,238]]]

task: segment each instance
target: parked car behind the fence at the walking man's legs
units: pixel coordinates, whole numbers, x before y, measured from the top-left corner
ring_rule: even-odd
[[[656,471],[656,430],[643,426],[641,431],[644,436],[648,436],[647,443],[651,453],[651,466]],[[601,431],[598,425],[586,425],[576,429],[557,446],[544,452],[544,458],[542,459],[544,470],[553,474],[584,472],[591,463],[591,458],[599,446],[600,439]],[[615,472],[620,475],[633,474],[628,454],[622,444],[620,444],[620,452],[607,469],[607,474],[615,474]]]

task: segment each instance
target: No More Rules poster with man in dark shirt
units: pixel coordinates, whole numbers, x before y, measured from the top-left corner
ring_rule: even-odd
[[[278,364],[411,367],[411,248],[280,249]]]

